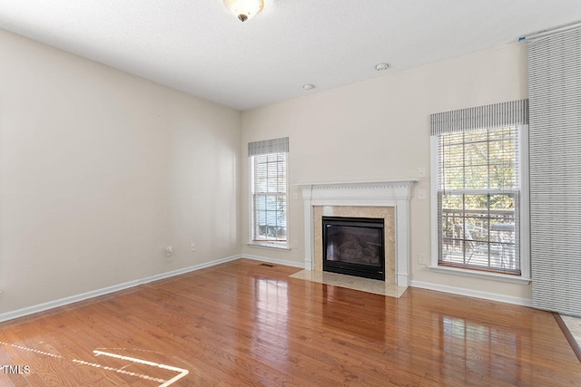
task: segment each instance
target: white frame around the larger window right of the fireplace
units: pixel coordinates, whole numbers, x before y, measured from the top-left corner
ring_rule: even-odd
[[[430,136],[430,228],[431,228],[431,259],[429,267],[438,272],[474,276],[480,278],[497,279],[507,282],[528,283],[530,281],[530,231],[529,231],[529,193],[528,193],[528,125],[507,125],[517,127],[518,135],[518,164],[520,168],[519,187],[519,250],[520,250],[520,275],[483,271],[478,268],[445,266],[439,264],[439,238],[438,235],[438,135]],[[482,128],[488,129],[488,128]]]

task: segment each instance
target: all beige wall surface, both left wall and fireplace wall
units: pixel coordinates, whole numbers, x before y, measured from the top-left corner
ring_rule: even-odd
[[[295,186],[298,248],[245,245],[249,141],[290,137],[291,184],[413,179],[430,113],[527,97],[521,44],[242,113],[1,30],[0,46],[0,314],[240,253],[301,264]],[[412,282],[530,298],[417,263],[428,179],[410,205]]]

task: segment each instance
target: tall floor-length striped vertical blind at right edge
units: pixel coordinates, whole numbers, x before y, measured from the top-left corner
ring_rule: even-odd
[[[533,306],[581,316],[581,27],[528,42]]]

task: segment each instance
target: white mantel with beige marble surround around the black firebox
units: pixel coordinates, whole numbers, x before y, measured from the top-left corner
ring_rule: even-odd
[[[305,269],[322,271],[323,215],[384,218],[386,284],[408,286],[409,197],[415,181],[299,184],[304,200]],[[392,247],[387,246],[390,243]]]

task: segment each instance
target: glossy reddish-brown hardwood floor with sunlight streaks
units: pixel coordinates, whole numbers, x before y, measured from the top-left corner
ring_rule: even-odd
[[[581,385],[550,313],[299,270],[240,259],[0,324],[0,385]]]

